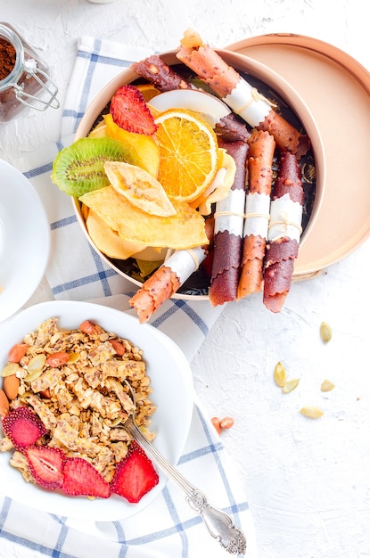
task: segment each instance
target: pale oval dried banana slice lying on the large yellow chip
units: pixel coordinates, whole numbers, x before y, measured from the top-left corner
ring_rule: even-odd
[[[144,168],[123,162],[107,161],[104,170],[115,191],[124,195],[136,208],[160,217],[176,214],[176,209],[169,201],[160,182]]]

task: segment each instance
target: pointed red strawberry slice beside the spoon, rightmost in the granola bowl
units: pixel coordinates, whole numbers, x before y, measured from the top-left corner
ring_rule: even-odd
[[[135,440],[132,440],[126,457],[119,462],[111,480],[111,492],[136,504],[159,482],[152,461]]]

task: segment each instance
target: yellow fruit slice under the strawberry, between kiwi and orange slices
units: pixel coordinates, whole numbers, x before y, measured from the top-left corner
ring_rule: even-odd
[[[152,135],[135,134],[119,127],[112,119],[111,114],[104,116],[105,133],[124,144],[129,144],[135,150],[139,165],[152,176],[157,176],[160,165],[160,150]]]

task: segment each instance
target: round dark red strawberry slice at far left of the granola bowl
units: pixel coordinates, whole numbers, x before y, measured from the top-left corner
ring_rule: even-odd
[[[17,449],[33,446],[37,439],[47,433],[44,423],[27,406],[19,406],[4,416],[3,429]]]

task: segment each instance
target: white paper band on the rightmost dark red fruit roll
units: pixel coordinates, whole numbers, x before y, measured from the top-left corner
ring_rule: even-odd
[[[271,201],[268,241],[275,241],[287,236],[300,242],[302,213],[303,208],[300,203],[292,201],[288,193],[284,193],[283,197]]]

